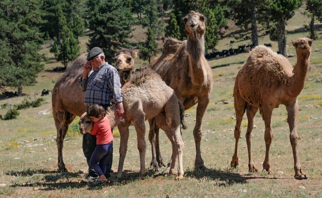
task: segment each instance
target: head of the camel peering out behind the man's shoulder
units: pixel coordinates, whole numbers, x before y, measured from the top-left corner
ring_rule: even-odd
[[[132,49],[122,49],[115,53],[114,61],[115,68],[118,72],[132,71],[134,69],[134,58],[137,57],[137,53]]]

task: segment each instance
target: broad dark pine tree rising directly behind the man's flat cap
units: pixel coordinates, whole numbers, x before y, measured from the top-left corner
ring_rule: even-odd
[[[133,31],[134,19],[131,9],[124,6],[125,0],[90,0],[92,17],[89,20],[89,49],[100,47],[105,58],[111,60],[117,49],[129,47],[128,38]]]

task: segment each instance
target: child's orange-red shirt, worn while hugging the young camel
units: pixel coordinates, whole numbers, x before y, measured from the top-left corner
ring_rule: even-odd
[[[90,134],[96,135],[96,144],[108,144],[114,140],[109,119],[106,116],[104,119],[94,122]]]

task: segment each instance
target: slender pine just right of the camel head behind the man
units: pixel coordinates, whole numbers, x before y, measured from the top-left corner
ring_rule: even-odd
[[[142,20],[142,26],[147,27],[147,41],[143,45],[138,45],[140,58],[151,63],[151,57],[158,52],[156,43],[156,28],[158,26],[158,7],[156,0],[150,0],[144,6],[146,17]]]

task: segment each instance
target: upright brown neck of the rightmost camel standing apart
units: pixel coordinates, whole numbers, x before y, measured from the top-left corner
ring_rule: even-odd
[[[297,97],[302,91],[308,74],[308,57],[298,56],[297,63],[293,69],[292,86],[290,87],[291,97]]]

